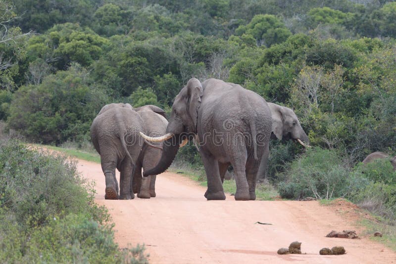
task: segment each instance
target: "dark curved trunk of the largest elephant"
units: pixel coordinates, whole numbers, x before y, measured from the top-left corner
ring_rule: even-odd
[[[143,172],[143,176],[146,177],[149,175],[158,175],[169,168],[169,166],[172,164],[173,160],[176,157],[177,151],[179,150],[179,146],[181,143],[180,138],[180,134],[176,134],[172,138],[169,138],[163,142],[163,150],[159,162],[154,168]]]

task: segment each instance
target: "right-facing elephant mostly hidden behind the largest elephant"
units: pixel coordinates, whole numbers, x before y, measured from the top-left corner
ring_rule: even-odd
[[[292,109],[274,103],[267,104],[269,109],[271,110],[272,116],[272,139],[300,139],[305,144],[309,144],[309,138],[304,130],[301,128],[300,122],[298,121],[298,118]],[[258,170],[257,177],[260,180],[265,179],[268,154],[269,148],[266,149],[266,151],[264,152],[260,168]]]

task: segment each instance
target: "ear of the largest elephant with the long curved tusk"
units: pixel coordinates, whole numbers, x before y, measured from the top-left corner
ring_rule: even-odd
[[[201,82],[199,82],[199,80],[196,78],[191,78],[188,81],[186,88],[188,95],[187,108],[194,123],[194,131],[196,132],[198,122],[198,108],[201,104],[203,88]]]

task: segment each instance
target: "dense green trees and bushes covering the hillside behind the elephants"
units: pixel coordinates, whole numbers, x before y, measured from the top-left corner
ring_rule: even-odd
[[[12,3],[0,0],[0,118],[29,140],[86,141],[103,104],[168,110],[191,77],[214,77],[293,107],[322,149],[271,142],[267,175],[285,197],[394,186],[390,171],[354,169],[373,151],[396,153],[394,1]],[[193,145],[178,155],[201,165]]]

